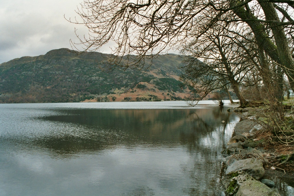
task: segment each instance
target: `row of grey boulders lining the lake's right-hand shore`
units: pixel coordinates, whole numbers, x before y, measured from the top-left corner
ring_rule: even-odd
[[[243,110],[250,112],[250,108]],[[222,151],[223,162],[227,166],[222,180],[226,195],[280,196],[272,180],[262,179],[265,174],[264,167],[269,165],[263,153],[255,149],[259,142],[258,139],[254,139],[255,134],[261,128],[250,120],[243,120],[235,125],[235,135]]]

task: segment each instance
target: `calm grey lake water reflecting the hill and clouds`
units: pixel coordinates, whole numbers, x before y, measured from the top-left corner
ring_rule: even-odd
[[[239,117],[212,101],[0,111],[0,195],[224,195],[220,152]]]

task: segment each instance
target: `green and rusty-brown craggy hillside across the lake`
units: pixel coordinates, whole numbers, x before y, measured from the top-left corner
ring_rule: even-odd
[[[107,54],[69,49],[16,58],[0,64],[0,103],[181,100],[181,58],[160,55],[146,71],[128,68],[103,72]],[[105,64],[105,63],[104,63]]]

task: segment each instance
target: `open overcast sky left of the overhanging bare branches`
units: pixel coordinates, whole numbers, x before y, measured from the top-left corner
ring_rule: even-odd
[[[70,48],[74,28],[87,29],[64,19],[74,18],[83,0],[0,0],[0,63],[22,56],[39,56],[52,49]],[[108,46],[101,52],[110,53]]]

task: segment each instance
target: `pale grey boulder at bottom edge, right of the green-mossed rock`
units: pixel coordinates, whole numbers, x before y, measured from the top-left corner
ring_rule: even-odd
[[[257,180],[247,180],[240,184],[236,196],[280,196],[273,190]]]

